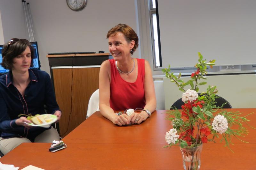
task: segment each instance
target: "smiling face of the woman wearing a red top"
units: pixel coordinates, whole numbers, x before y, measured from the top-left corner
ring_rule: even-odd
[[[121,32],[108,38],[108,50],[113,55],[115,61],[120,61],[131,56],[131,49],[134,47],[134,41],[126,41]]]

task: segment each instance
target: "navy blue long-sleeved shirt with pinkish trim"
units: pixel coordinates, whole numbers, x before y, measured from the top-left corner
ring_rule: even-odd
[[[25,95],[18,91],[12,82],[12,72],[0,77],[0,131],[1,137],[27,137],[33,142],[34,138],[50,128],[18,126],[15,120],[18,115],[53,114],[60,110],[52,87],[50,76],[45,71],[28,70],[30,83],[25,89]]]

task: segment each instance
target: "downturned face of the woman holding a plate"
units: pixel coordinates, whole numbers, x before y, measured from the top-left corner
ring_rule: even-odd
[[[27,46],[26,49],[12,60],[12,70],[17,72],[26,72],[30,68],[31,51]]]

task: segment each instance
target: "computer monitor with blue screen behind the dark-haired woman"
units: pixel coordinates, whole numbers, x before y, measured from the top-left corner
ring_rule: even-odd
[[[38,46],[37,46],[37,42],[30,42],[31,46],[34,48],[34,59],[33,59],[33,64],[34,66],[31,67],[31,69],[36,69],[36,70],[40,70],[40,60],[39,60],[39,54],[38,54]],[[0,63],[2,63],[3,57],[2,57],[2,50],[3,50],[3,46],[4,45],[0,45]],[[0,75],[7,73],[9,70],[4,69],[1,65],[0,65]]]

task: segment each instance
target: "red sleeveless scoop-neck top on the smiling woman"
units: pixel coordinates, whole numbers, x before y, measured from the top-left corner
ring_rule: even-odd
[[[138,76],[134,83],[121,78],[114,59],[109,59],[111,65],[110,107],[113,110],[144,108],[146,105],[144,94],[145,60],[137,58]]]

